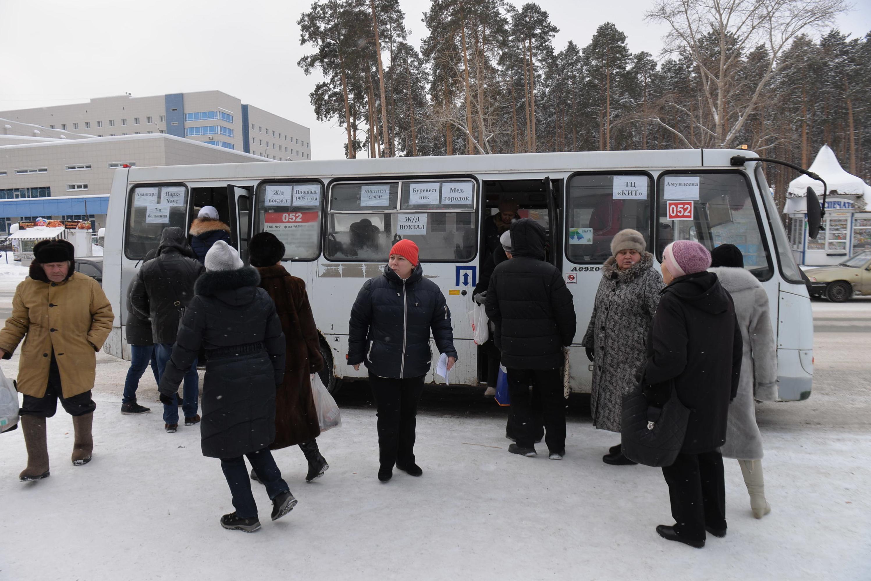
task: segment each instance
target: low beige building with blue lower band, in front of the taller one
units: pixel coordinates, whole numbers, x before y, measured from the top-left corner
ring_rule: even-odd
[[[267,159],[161,133],[79,139],[0,134],[0,236],[10,224],[37,217],[105,227],[118,167],[252,161]]]

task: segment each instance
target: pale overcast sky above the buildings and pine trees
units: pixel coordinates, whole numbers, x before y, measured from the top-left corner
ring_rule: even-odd
[[[518,6],[520,0],[513,0]],[[599,24],[625,32],[633,52],[656,57],[664,29],[646,23],[644,0],[540,0],[559,26],[557,51],[569,40],[589,44]],[[308,93],[321,80],[296,61],[301,0],[0,0],[0,111],[218,90],[312,130],[312,159],[343,157],[345,134],[319,123]],[[420,45],[429,0],[401,0],[411,42]],[[837,23],[862,37],[871,30],[871,2],[859,0]]]

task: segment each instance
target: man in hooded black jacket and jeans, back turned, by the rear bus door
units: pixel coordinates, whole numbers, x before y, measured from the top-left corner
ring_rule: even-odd
[[[160,235],[158,254],[139,268],[130,301],[133,310],[152,321],[154,349],[158,360],[158,373],[162,377],[166,361],[172,356],[172,343],[179,333],[179,320],[187,303],[193,298],[193,283],[206,269],[193,258],[185,232],[177,226],[164,228]],[[193,361],[185,375],[182,409],[185,425],[199,422],[197,398],[199,377],[197,362]],[[178,397],[178,396],[177,396]],[[164,429],[174,432],[179,426],[179,409],[164,404]]]

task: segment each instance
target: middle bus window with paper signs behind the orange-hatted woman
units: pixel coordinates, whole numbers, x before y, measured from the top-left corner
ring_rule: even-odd
[[[469,180],[334,184],[324,255],[381,262],[395,242],[408,239],[420,248],[424,262],[472,260],[475,189]]]

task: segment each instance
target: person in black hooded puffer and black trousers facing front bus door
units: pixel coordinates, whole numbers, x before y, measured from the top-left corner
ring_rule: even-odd
[[[550,458],[565,454],[565,402],[560,368],[563,348],[575,336],[575,307],[557,267],[544,261],[544,227],[524,218],[511,224],[511,260],[499,264],[487,291],[487,316],[508,369],[513,454],[535,456],[532,400],[544,412]],[[532,385],[530,394],[529,386]],[[535,406],[539,407],[539,406]]]

